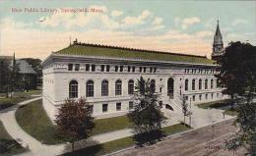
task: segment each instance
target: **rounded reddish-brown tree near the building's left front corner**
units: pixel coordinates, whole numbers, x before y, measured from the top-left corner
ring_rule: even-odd
[[[95,123],[92,114],[91,106],[84,98],[80,98],[78,101],[67,99],[61,105],[55,122],[60,135],[72,143],[72,151],[75,141],[88,138],[94,129]]]

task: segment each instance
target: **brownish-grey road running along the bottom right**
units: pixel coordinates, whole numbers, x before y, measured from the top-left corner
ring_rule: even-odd
[[[166,138],[156,145],[128,149],[112,154],[113,156],[212,156],[232,155],[224,151],[224,140],[233,136],[238,128],[234,127],[234,119],[212,126],[190,130]]]

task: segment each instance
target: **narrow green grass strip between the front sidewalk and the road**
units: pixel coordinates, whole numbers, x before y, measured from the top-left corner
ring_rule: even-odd
[[[181,132],[184,130],[189,130],[189,128],[184,125],[177,124],[170,127],[165,127],[162,130],[167,135],[170,135],[170,134]],[[128,148],[134,145],[135,145],[135,141],[133,140],[132,136],[129,136],[129,137],[124,137],[124,138],[116,139],[113,141],[105,142],[102,144],[96,144],[94,146],[86,147],[83,149],[79,149],[72,153],[66,153],[64,154],[64,156],[72,156],[72,155],[83,156],[85,154],[87,156],[99,156],[99,155],[108,154],[114,151],[118,151],[124,148]]]

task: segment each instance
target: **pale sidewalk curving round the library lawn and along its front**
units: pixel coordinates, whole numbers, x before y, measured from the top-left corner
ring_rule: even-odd
[[[38,140],[33,138],[26,131],[22,130],[22,128],[18,125],[16,118],[15,118],[15,112],[19,108],[19,106],[26,105],[26,104],[28,104],[32,101],[38,100],[40,98],[41,97],[36,97],[36,98],[30,99],[30,100],[21,102],[17,106],[13,106],[13,107],[9,108],[8,110],[4,110],[4,111],[0,112],[0,120],[3,122],[3,125],[4,125],[5,129],[8,131],[8,133],[14,139],[21,139],[22,145],[24,147],[27,147],[29,145],[31,152],[24,153],[21,155],[36,155],[36,156],[37,155],[38,156],[40,156],[40,155],[42,155],[42,156],[58,155],[58,154],[65,152],[66,149],[70,147],[69,143],[57,144],[57,145],[41,144]],[[197,118],[195,118],[192,122],[199,120],[198,119],[199,116],[200,116],[199,122],[202,123],[203,125],[213,124],[212,119],[215,119],[216,122],[228,119],[228,118],[221,119],[221,117],[219,116],[221,114],[220,110],[212,111],[211,113],[209,113],[208,111],[209,110],[202,110],[202,109],[198,110],[197,109],[195,111],[196,113],[198,113]],[[166,121],[166,124],[164,127],[178,124],[179,123],[178,121],[182,121],[182,119],[183,119],[182,115],[177,116],[176,114],[175,114],[175,118],[174,118],[174,116],[173,116],[173,114],[171,114],[171,112],[169,112],[168,115],[169,115],[168,117],[170,117],[171,119],[168,119]],[[213,116],[213,118],[212,118],[212,116]],[[216,117],[218,117],[218,118],[216,118]],[[196,123],[198,123],[198,122],[196,122]],[[199,124],[199,125],[196,124],[196,125],[197,125],[197,127],[203,126],[201,124]],[[95,143],[104,143],[104,142],[112,141],[115,139],[131,136],[131,135],[133,135],[132,130],[129,130],[129,129],[116,130],[116,131],[111,131],[111,132],[95,135],[95,136],[89,138],[88,141],[93,140],[93,142],[95,142]],[[86,146],[88,146],[88,145],[89,144],[87,144]]]

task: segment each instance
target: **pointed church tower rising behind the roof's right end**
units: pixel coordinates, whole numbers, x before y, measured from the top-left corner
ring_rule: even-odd
[[[222,57],[223,54],[224,54],[223,35],[221,33],[219,21],[218,21],[215,36],[214,36],[212,59],[217,61],[220,57]]]

